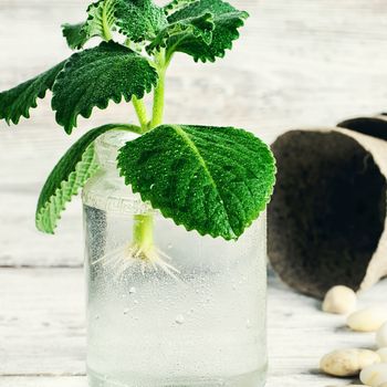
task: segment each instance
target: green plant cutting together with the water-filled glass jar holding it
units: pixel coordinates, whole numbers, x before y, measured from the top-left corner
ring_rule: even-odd
[[[36,208],[36,228],[53,233],[83,189],[92,386],[263,385],[260,213],[274,158],[240,128],[164,123],[175,55],[223,57],[247,18],[221,0],[100,0],[84,22],[63,25],[74,54],[0,94],[8,124],[48,91],[66,134],[111,101],[132,103],[138,118],[83,135]]]

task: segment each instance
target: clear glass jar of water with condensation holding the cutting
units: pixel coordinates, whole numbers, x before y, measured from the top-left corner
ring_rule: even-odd
[[[128,139],[96,142],[101,168],[83,190],[90,385],[263,386],[265,216],[237,242],[176,226],[119,177]],[[154,228],[151,261],[133,253],[139,223]]]

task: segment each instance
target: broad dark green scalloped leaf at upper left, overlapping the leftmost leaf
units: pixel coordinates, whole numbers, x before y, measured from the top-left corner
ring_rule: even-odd
[[[113,42],[73,54],[53,87],[52,107],[56,122],[66,133],[76,127],[76,118],[88,118],[93,107],[106,108],[122,96],[143,98],[157,84],[157,71],[147,59]]]

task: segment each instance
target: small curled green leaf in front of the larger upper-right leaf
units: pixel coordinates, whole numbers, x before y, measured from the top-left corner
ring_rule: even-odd
[[[178,36],[179,42],[182,40],[199,39],[206,44],[211,44],[213,29],[213,14],[210,12],[197,18],[179,20],[165,28],[147,46],[147,52],[153,53],[155,50],[159,51],[160,48],[167,48],[168,41],[172,36]]]

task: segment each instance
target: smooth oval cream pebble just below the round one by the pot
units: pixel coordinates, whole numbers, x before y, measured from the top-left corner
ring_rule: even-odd
[[[354,312],[347,318],[347,325],[357,332],[376,332],[387,322],[387,308],[366,307]]]

